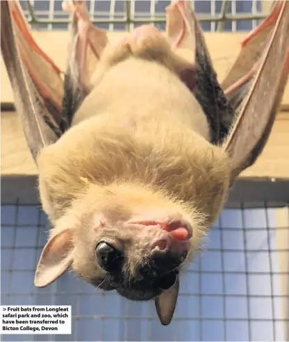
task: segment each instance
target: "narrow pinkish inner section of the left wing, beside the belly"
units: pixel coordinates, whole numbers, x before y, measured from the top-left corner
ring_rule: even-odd
[[[86,1],[63,1],[63,10],[72,13],[72,34],[65,72],[63,115],[72,121],[74,113],[89,94],[90,76],[108,43],[106,31],[90,21]]]

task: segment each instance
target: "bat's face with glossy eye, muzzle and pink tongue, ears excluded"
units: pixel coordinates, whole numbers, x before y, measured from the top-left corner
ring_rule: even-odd
[[[146,195],[138,204],[133,192],[131,198],[117,192],[100,197],[100,213],[93,205],[74,232],[72,268],[94,286],[132,300],[149,300],[174,285],[192,250],[193,225],[199,224],[176,211],[176,204],[164,200],[159,206]]]

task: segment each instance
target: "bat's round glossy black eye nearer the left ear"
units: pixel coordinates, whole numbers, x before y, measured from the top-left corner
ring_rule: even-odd
[[[122,253],[110,243],[99,242],[95,250],[95,256],[99,266],[107,272],[117,272],[122,267]]]

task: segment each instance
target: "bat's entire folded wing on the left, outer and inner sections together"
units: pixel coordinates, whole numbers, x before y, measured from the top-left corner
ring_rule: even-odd
[[[19,1],[1,1],[1,53],[28,147],[37,159],[42,147],[56,142],[90,91],[91,68],[107,43],[95,28],[85,1],[67,1],[73,13],[67,70],[62,73],[33,40]]]

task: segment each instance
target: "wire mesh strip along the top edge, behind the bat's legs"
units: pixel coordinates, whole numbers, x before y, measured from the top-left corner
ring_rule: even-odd
[[[90,19],[109,31],[130,30],[147,22],[165,27],[165,8],[170,0],[101,0],[86,1]],[[238,31],[252,29],[266,15],[261,0],[192,0],[204,31]],[[28,22],[37,29],[67,29],[69,15],[62,1],[20,1]]]

